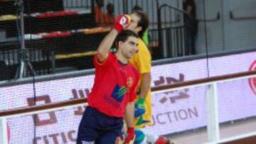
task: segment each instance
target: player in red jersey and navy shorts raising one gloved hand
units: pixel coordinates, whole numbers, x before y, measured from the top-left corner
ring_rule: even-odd
[[[114,29],[102,40],[94,57],[95,82],[78,129],[79,144],[114,144],[127,122],[125,143],[134,139],[134,100],[139,72],[129,64],[138,51],[138,35],[125,30],[129,16],[119,15]],[[114,43],[117,53],[110,52]]]

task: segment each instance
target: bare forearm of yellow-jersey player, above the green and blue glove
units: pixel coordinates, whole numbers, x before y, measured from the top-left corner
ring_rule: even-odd
[[[142,83],[140,85],[140,93],[139,96],[142,98],[146,98],[146,95],[149,92],[151,83],[151,72],[142,74]]]

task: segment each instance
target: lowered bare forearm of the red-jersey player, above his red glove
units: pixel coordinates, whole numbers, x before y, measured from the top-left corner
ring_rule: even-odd
[[[129,102],[125,108],[124,113],[125,121],[127,122],[128,128],[134,127],[134,102]]]

